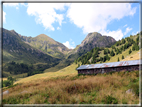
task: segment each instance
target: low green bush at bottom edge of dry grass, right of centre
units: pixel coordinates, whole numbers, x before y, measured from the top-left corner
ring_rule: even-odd
[[[105,104],[118,104],[118,100],[112,96],[106,96],[104,100],[102,100]]]

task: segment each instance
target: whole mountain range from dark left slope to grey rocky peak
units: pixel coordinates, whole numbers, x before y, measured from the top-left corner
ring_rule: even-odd
[[[48,71],[62,69],[77,58],[95,47],[107,47],[116,41],[112,37],[102,36],[100,33],[89,33],[75,49],[68,49],[63,44],[53,40],[45,34],[36,37],[22,36],[14,30],[3,29],[3,62],[18,63],[47,63],[51,66]]]

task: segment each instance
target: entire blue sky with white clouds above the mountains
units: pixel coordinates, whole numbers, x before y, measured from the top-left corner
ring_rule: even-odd
[[[88,33],[115,40],[140,31],[139,3],[3,3],[3,28],[23,36],[46,34],[74,49]]]

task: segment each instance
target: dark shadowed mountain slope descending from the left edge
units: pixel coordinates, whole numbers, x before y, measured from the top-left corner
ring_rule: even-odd
[[[2,29],[3,33],[3,62],[16,61],[19,63],[58,63],[54,58],[39,49],[23,42],[14,30]]]

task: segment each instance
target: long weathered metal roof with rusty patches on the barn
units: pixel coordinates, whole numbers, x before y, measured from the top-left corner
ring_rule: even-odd
[[[111,62],[111,63],[81,65],[80,67],[77,68],[77,70],[139,65],[139,64],[141,64],[141,62],[142,62],[142,60],[131,60],[131,61],[120,61],[120,62]]]

